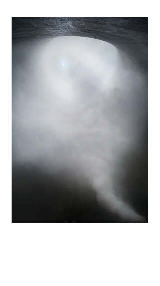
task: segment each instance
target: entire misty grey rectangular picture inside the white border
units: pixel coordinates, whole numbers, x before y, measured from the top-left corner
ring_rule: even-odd
[[[147,18],[12,18],[12,222],[147,222]]]

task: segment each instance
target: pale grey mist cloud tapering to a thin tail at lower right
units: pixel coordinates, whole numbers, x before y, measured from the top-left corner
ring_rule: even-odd
[[[114,187],[121,154],[136,148],[146,116],[139,68],[107,42],[67,36],[13,46],[12,76],[13,164],[86,177],[99,203],[144,221],[123,185]]]

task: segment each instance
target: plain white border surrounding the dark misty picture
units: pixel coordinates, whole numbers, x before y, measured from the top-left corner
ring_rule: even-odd
[[[105,5],[102,1],[96,5],[92,1],[5,1],[1,13],[1,285],[158,285],[158,6],[155,1],[149,5],[135,0]],[[148,224],[11,224],[12,16],[149,16]]]

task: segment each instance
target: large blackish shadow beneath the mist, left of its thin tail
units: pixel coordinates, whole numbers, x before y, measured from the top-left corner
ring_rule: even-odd
[[[63,174],[49,176],[37,167],[23,165],[12,172],[13,223],[120,222],[100,207],[96,192]]]

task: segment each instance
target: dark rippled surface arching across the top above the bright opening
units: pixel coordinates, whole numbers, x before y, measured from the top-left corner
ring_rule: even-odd
[[[85,36],[114,44],[147,66],[148,18],[146,17],[34,17],[12,18],[12,41],[57,36]]]

